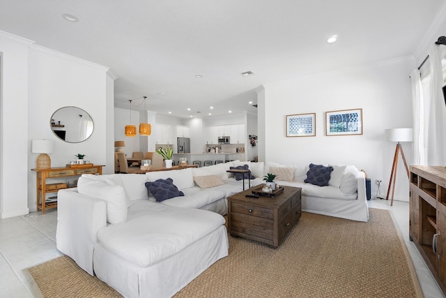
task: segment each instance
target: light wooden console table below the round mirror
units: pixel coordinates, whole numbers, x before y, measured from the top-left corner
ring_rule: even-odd
[[[45,202],[47,193],[56,193],[60,189],[68,188],[64,183],[47,184],[47,179],[80,176],[82,174],[100,174],[105,165],[79,165],[76,167],[50,167],[49,169],[31,169],[36,172],[36,204],[37,211],[56,208],[57,202]]]

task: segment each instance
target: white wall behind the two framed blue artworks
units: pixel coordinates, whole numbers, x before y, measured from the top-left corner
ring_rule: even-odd
[[[355,165],[371,179],[372,195],[376,194],[376,179],[383,180],[381,193],[385,195],[395,144],[385,142],[384,131],[412,127],[408,75],[414,66],[415,59],[406,57],[266,84],[264,140],[259,128],[259,143],[265,142],[265,160],[296,165]],[[262,95],[259,92],[259,107]],[[362,108],[362,135],[325,136],[325,112],[355,108]],[[286,137],[287,114],[314,112],[316,137]],[[410,144],[403,144],[403,149],[410,164]],[[408,179],[403,168],[400,163],[395,198],[407,201]]]

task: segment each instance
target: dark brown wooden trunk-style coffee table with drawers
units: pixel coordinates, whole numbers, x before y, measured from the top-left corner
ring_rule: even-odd
[[[228,229],[231,236],[260,241],[272,248],[280,243],[298,223],[302,204],[301,188],[282,186],[284,191],[275,198],[260,196],[249,198],[256,187],[228,198]]]

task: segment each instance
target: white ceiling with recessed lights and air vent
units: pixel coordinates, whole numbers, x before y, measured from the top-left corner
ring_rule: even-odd
[[[255,112],[248,102],[256,103],[261,84],[413,55],[444,6],[444,0],[0,0],[0,30],[111,68],[118,76],[115,107],[128,109],[133,99],[139,107],[132,109],[143,110],[148,96],[147,109],[160,114],[215,117]],[[327,43],[332,35],[337,42]],[[248,70],[255,75],[241,75]]]

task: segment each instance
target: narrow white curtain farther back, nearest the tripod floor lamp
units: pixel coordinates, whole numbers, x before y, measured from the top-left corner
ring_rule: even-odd
[[[413,143],[412,163],[414,165],[426,165],[424,154],[424,100],[422,93],[421,74],[418,68],[410,73],[412,82],[412,118],[413,118]]]

